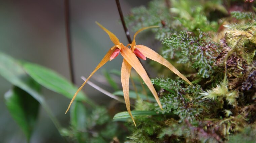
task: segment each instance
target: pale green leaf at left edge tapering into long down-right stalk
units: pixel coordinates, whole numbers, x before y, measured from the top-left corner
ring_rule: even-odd
[[[10,56],[0,52],[0,75],[8,80],[13,85],[21,88],[35,98],[45,109],[48,116],[53,121],[54,125],[61,133],[61,126],[58,120],[54,117],[49,106],[45,102],[43,96],[34,89],[34,82],[23,70],[20,64]]]

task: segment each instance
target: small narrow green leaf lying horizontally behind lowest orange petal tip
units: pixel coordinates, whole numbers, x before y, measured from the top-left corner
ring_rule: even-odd
[[[157,113],[155,111],[131,111],[132,112],[132,116],[147,116],[147,115],[157,115]],[[123,118],[130,118],[130,115],[127,111],[125,112],[120,112],[117,113],[113,119],[123,119]]]

